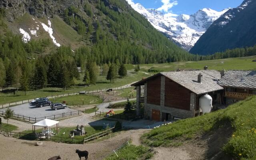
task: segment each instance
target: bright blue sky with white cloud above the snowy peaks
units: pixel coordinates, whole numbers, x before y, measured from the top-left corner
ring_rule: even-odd
[[[129,1],[129,0],[128,0]],[[211,8],[221,11],[224,8],[235,8],[243,0],[130,0],[140,3],[145,8],[155,8],[162,12],[172,12],[174,14],[194,14],[199,9]]]

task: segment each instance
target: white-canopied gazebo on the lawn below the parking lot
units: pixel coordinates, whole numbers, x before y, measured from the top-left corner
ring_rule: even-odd
[[[57,133],[59,133],[60,131],[60,128],[59,128],[59,121],[56,121],[56,120],[49,120],[49,119],[44,119],[44,120],[41,120],[35,124],[32,125],[32,132],[33,133],[36,133],[36,126],[40,126],[40,127],[47,127],[47,131],[46,131],[46,134],[47,136],[49,136],[50,134],[50,126],[53,126],[56,124],[56,130],[57,130]]]

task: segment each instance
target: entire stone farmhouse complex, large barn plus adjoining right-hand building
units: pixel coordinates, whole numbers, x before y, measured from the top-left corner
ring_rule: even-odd
[[[207,67],[204,70],[177,70],[160,72],[132,86],[137,90],[137,116],[163,121],[202,114],[199,98],[205,94],[212,97],[213,107],[256,94],[256,72],[218,72]],[[141,103],[144,103],[144,115],[140,115]]]

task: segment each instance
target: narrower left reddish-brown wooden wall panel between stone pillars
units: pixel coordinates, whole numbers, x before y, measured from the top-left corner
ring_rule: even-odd
[[[161,76],[148,80],[147,84],[147,103],[160,105]]]

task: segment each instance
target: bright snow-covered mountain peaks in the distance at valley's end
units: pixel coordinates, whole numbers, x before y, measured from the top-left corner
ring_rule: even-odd
[[[134,10],[176,44],[190,50],[207,28],[228,9],[217,12],[210,8],[198,10],[195,14],[162,14],[156,9],[146,9],[141,4],[130,4]]]

